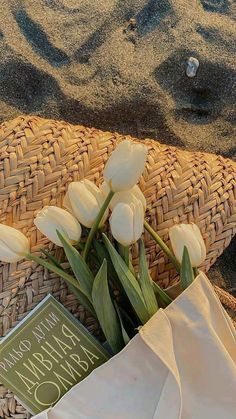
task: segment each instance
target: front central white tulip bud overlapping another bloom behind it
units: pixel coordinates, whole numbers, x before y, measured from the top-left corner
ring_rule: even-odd
[[[130,205],[119,202],[110,217],[112,235],[123,246],[129,246],[140,239],[143,232],[143,223],[143,205],[137,199]]]

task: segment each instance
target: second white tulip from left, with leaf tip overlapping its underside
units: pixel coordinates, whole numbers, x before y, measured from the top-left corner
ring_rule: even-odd
[[[62,247],[57,230],[72,244],[77,243],[81,237],[79,222],[72,214],[62,208],[54,206],[44,207],[38,212],[34,224],[42,234],[57,246]]]

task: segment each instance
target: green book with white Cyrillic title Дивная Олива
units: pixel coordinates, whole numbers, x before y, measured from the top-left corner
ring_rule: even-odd
[[[109,359],[103,346],[52,295],[0,342],[0,382],[33,415]]]

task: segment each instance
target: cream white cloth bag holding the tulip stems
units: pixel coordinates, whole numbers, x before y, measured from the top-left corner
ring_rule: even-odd
[[[35,419],[235,419],[236,334],[207,277]]]

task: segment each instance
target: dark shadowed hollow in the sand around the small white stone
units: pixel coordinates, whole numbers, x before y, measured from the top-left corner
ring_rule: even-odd
[[[186,66],[191,56],[196,57],[199,63],[194,78],[186,77]],[[194,52],[177,50],[156,69],[155,77],[172,96],[176,117],[182,117],[191,123],[210,124],[219,115],[222,116],[225,103],[228,106],[234,105],[235,99],[231,92],[234,89],[236,72],[212,63],[197,48]]]

